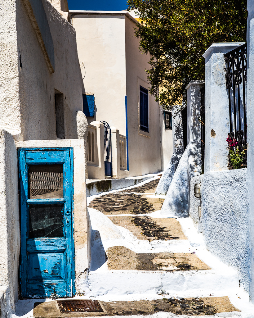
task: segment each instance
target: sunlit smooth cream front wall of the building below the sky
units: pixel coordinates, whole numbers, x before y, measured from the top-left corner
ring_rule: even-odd
[[[73,15],[80,63],[84,63],[83,93],[94,93],[96,117],[126,135],[124,14]],[[85,68],[85,73],[84,73]]]

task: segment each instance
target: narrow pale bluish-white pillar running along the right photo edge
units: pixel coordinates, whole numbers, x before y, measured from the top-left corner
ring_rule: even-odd
[[[254,302],[254,0],[247,1],[247,188],[249,189],[250,299]]]

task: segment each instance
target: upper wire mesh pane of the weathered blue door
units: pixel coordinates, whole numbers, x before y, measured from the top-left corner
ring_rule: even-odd
[[[30,165],[28,193],[30,199],[60,199],[64,197],[62,164]]]

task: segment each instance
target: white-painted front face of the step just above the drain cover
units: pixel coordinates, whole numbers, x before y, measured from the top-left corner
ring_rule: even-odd
[[[90,272],[79,290],[88,297],[107,295],[117,300],[126,296],[132,299],[155,299],[162,290],[178,297],[209,297],[237,294],[238,284],[237,274],[231,270],[228,273],[219,273],[217,270],[111,270]]]

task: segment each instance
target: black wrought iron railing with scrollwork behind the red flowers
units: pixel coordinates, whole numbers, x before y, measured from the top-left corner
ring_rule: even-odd
[[[230,122],[230,132],[228,133],[227,141],[230,153],[241,159],[239,168],[247,167],[246,54],[247,45],[245,43],[224,55]],[[231,158],[229,156],[229,169],[234,166]]]

